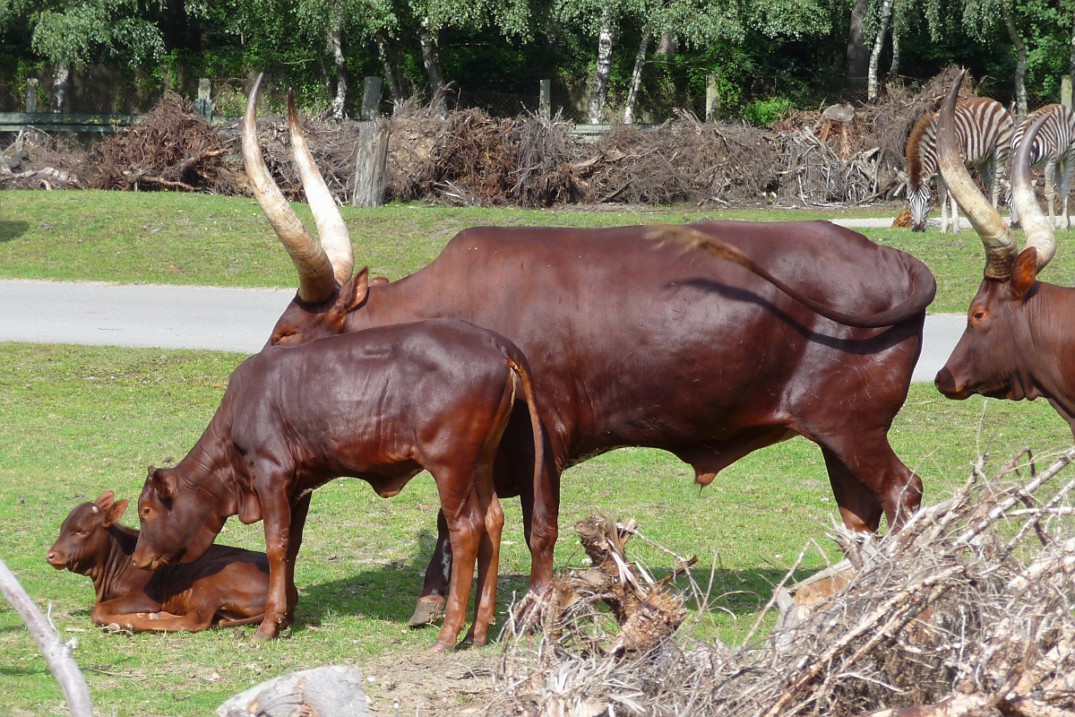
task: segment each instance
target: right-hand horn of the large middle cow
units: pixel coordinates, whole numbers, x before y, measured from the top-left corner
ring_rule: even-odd
[[[317,234],[321,238],[321,246],[332,262],[332,270],[335,272],[335,281],[343,286],[350,278],[350,273],[355,269],[355,249],[350,244],[350,234],[347,233],[347,225],[343,223],[340,207],[335,204],[335,199],[325,184],[325,178],[317,171],[314,163],[314,156],[310,153],[310,145],[302,133],[302,125],[299,124],[299,116],[295,112],[295,97],[287,94],[287,125],[291,129],[291,161],[299,171],[299,178],[302,181],[302,188],[306,191],[306,201],[310,202],[310,211],[314,214],[314,221],[317,224]]]

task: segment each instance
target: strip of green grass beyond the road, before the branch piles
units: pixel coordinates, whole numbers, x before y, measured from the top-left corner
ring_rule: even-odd
[[[298,205],[309,219],[304,204]],[[891,216],[901,207],[725,211],[546,211],[401,205],[343,215],[359,266],[399,278],[429,263],[460,229],[475,225],[607,227],[707,219],[782,220]],[[307,225],[313,226],[309,220]],[[981,281],[981,243],[931,229],[865,229],[909,252],[936,275],[931,312],[962,313]],[[1058,232],[1044,278],[1075,283],[1075,232]],[[257,203],[172,192],[4,191],[0,195],[0,278],[295,286],[295,270]]]

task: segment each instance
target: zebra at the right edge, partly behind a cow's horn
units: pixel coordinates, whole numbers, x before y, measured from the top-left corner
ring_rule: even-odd
[[[1060,187],[1060,204],[1064,213],[1064,229],[1071,229],[1072,220],[1067,212],[1067,203],[1072,193],[1072,174],[1075,173],[1075,112],[1062,104],[1046,104],[1035,110],[1022,120],[1019,129],[1012,137],[1012,156],[1022,142],[1027,128],[1043,114],[1049,113],[1049,118],[1042,125],[1034,138],[1034,146],[1030,148],[1030,166],[1042,170],[1045,174],[1045,198],[1049,200],[1049,219],[1057,226],[1057,212],[1054,207],[1057,199],[1057,187]],[[1012,207],[1012,224],[1019,224],[1019,215]]]

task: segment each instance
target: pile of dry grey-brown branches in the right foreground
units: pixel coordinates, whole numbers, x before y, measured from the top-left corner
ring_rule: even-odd
[[[750,642],[751,630],[737,648],[664,636],[664,628],[629,650],[617,626],[626,623],[575,608],[587,597],[564,591],[572,578],[561,578],[543,631],[505,641],[501,697],[489,712],[1075,715],[1075,481],[1052,486],[1072,460],[1075,448],[1035,474],[1024,451],[990,478],[983,458],[963,488],[900,533],[836,531],[847,567],[830,571],[840,575],[833,594],[785,614],[764,642]],[[624,559],[616,565],[621,584],[644,574]]]

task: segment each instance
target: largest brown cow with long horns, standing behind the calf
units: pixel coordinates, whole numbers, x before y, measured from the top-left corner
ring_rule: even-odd
[[[299,271],[270,338],[328,334],[458,316],[530,360],[548,432],[554,494],[530,494],[533,446],[516,411],[497,461],[501,497],[520,494],[533,555],[556,540],[560,473],[619,446],[663,448],[708,485],[743,456],[792,435],[817,443],[844,522],[898,525],[921,482],[888,443],[921,349],[929,269],[828,221],[714,221],[694,229],[745,253],[754,270],[650,238],[653,228],[467,229],[420,271],[371,286],[354,276],[347,229],[314,166],[293,107],[292,157],[321,245],[266,169],[250,91],[243,155],[255,196]],[[765,268],[783,288],[756,271]],[[412,623],[443,601],[444,522]],[[551,579],[533,563],[532,592]]]

